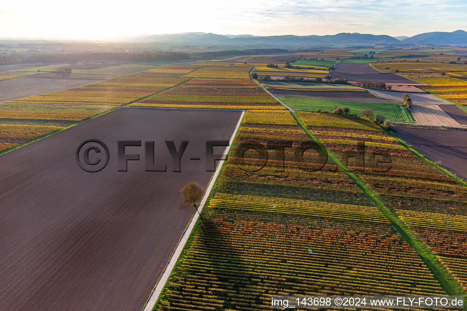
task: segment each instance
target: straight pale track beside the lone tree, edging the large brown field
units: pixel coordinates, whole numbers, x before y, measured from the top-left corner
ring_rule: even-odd
[[[238,120],[238,123],[235,127],[235,129],[233,130],[233,133],[232,133],[232,136],[230,137],[230,140],[229,140],[229,146],[228,148],[226,148],[226,150],[224,151],[224,154],[222,156],[223,159],[226,159],[226,156],[227,154],[229,153],[229,150],[230,148],[232,147],[232,144],[233,144],[233,140],[235,139],[236,137],[236,134],[240,128],[240,124],[243,120],[243,116],[245,115],[245,111],[242,111],[241,113],[241,116]],[[222,161],[225,161],[225,160],[222,160]],[[206,187],[206,190],[205,190],[205,194],[203,196],[203,199],[201,200],[201,202],[199,203],[199,206],[198,206],[198,209],[197,211],[195,212],[195,214],[193,215],[193,218],[191,218],[191,221],[189,222],[188,226],[186,227],[181,239],[180,239],[180,242],[178,243],[177,245],[177,249],[175,249],[175,252],[173,253],[173,255],[170,257],[170,261],[169,263],[167,264],[167,266],[165,267],[165,270],[162,274],[162,276],[159,278],[159,280],[157,281],[157,284],[154,288],[154,290],[152,291],[151,293],[151,296],[149,297],[149,300],[147,301],[146,305],[144,306],[144,309],[143,311],[151,311],[153,308],[154,308],[154,305],[156,304],[165,284],[167,283],[167,281],[169,280],[169,276],[170,274],[172,273],[172,270],[173,268],[175,267],[177,261],[178,261],[178,257],[181,255],[184,247],[185,247],[185,244],[188,242],[188,239],[191,235],[191,232],[193,230],[193,228],[195,227],[195,224],[196,222],[198,221],[198,218],[205,206],[205,203],[208,199],[208,197],[210,196],[211,194],[211,190],[212,190],[212,187],[214,186],[214,183],[215,181],[217,180],[217,177],[219,176],[219,173],[223,167],[223,163],[219,163],[217,168],[216,168],[216,171],[214,172],[214,174],[212,174],[212,177],[211,177],[211,180],[209,181],[209,184],[208,186]]]

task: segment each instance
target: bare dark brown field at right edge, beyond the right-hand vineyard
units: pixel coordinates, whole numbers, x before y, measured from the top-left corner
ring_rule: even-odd
[[[441,166],[467,178],[467,131],[411,129],[391,126],[403,140]]]

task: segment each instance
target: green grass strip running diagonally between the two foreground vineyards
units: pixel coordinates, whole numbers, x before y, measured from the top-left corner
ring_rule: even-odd
[[[309,138],[320,147],[325,148],[321,141],[314,137],[313,134],[308,130],[306,125],[303,123],[302,119],[297,115],[296,112],[290,112],[297,123],[302,127],[305,133]],[[466,293],[460,286],[460,284],[453,279],[452,276],[446,271],[441,263],[439,263],[438,258],[420,241],[420,239],[407,227],[407,225],[393,214],[391,210],[384,205],[382,200],[371,190],[357,175],[351,172],[347,166],[345,166],[340,159],[337,158],[333,152],[327,151],[328,157],[337,165],[342,171],[346,172],[347,175],[354,180],[354,183],[361,188],[361,190],[368,196],[368,198],[373,202],[375,207],[377,207],[382,214],[384,214],[391,224],[396,228],[396,230],[403,236],[403,238],[409,243],[409,245],[415,249],[418,256],[426,264],[428,269],[432,272],[433,276],[439,281],[443,290],[446,291],[448,295],[452,296],[464,296],[464,310],[467,310],[465,302],[467,300]]]

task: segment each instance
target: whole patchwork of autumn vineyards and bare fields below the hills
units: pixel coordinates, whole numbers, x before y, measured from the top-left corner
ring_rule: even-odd
[[[0,310],[466,295],[467,69],[371,51],[109,61],[1,80]],[[407,102],[400,90],[416,92]],[[205,141],[231,137],[227,159],[206,172]],[[101,172],[76,163],[86,138],[112,142]],[[180,173],[171,139],[189,141]],[[151,164],[167,172],[145,171],[142,146],[127,147],[140,160],[119,172],[117,140],[156,141]],[[180,199],[189,181],[212,186],[197,211]]]

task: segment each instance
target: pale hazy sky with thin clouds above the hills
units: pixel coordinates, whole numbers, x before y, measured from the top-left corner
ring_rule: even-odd
[[[109,39],[223,35],[416,35],[467,30],[465,0],[22,0],[0,6],[0,37]]]

